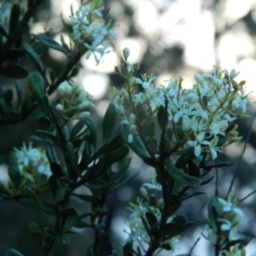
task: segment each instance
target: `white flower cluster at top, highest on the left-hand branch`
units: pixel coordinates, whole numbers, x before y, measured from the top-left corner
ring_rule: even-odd
[[[102,24],[95,24],[95,18],[101,20],[100,24]],[[100,9],[95,9],[91,5],[90,8],[87,6],[80,7],[76,15],[71,18],[71,24],[73,26],[74,42],[82,45],[84,49],[88,49],[86,58],[90,58],[90,55],[93,54],[98,64],[102,55],[108,53],[108,36],[117,38],[117,34],[111,29],[111,23],[104,24]],[[96,53],[100,55],[100,58]]]

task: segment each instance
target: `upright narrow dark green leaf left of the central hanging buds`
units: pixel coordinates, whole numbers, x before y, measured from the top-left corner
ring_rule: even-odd
[[[118,113],[116,112],[113,103],[110,103],[102,122],[102,143],[108,142],[109,137],[113,132],[117,117]]]

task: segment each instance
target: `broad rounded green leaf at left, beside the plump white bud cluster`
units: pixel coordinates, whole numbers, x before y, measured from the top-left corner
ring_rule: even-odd
[[[30,73],[26,78],[27,87],[39,104],[42,104],[42,98],[45,95],[44,79],[38,72]]]

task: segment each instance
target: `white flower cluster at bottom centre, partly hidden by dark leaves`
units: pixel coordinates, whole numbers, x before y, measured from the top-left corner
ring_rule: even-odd
[[[153,190],[153,194],[148,194],[148,189]],[[129,221],[130,231],[125,230],[125,232],[129,235],[127,241],[138,241],[141,246],[143,244],[150,243],[150,236],[148,235],[147,228],[145,228],[145,224],[148,225],[147,221],[147,213],[154,214],[157,222],[160,223],[161,219],[161,207],[163,207],[163,200],[157,200],[155,198],[158,191],[161,190],[161,186],[158,183],[155,183],[153,179],[153,183],[144,183],[141,187],[141,194],[143,195],[145,201],[142,198],[137,198],[137,203],[130,203],[129,209],[131,210],[131,216]],[[172,222],[172,217],[168,218],[167,223]],[[179,236],[174,236],[172,238],[168,238],[162,241],[162,245],[168,245],[171,247],[172,252],[179,249]],[[145,248],[144,248],[145,249]],[[161,250],[161,249],[159,249]],[[160,252],[160,251],[159,251]]]

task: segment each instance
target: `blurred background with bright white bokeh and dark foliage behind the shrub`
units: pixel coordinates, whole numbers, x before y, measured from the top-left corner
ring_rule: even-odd
[[[32,1],[28,1],[32,2]],[[29,27],[24,28],[22,44],[31,40],[29,33],[47,33],[57,42],[60,42],[61,34],[68,42],[70,27],[67,25],[73,10],[79,8],[80,1],[75,0],[44,0],[38,1],[38,8],[32,15]],[[15,1],[1,0],[0,16],[8,17],[8,7],[5,4]],[[26,8],[27,1],[16,1]],[[113,27],[118,33],[118,39],[112,41],[113,49],[106,55],[103,61],[96,66],[93,58],[85,60],[85,56],[79,61],[79,73],[73,78],[79,81],[86,90],[94,96],[96,105],[94,117],[99,125],[102,122],[108,103],[112,100],[110,89],[112,86],[122,87],[124,81],[117,73],[114,66],[121,65],[121,50],[128,47],[131,51],[131,62],[140,62],[141,68],[137,73],[154,73],[158,77],[155,84],[164,84],[164,80],[173,76],[182,76],[185,87],[192,86],[195,73],[212,73],[213,66],[220,66],[231,70],[241,71],[238,79],[247,80],[247,92],[254,90],[250,100],[255,101],[255,71],[256,71],[256,3],[253,0],[106,0],[104,1],[105,15],[113,20]],[[62,20],[61,22],[61,15]],[[19,40],[16,40],[13,49],[19,48]],[[70,43],[72,44],[72,43]],[[38,49],[41,51],[41,61],[49,76],[51,71],[59,73],[67,58],[61,52],[53,49]],[[32,61],[20,52],[14,52],[14,58],[19,56],[20,65],[26,72],[37,70]],[[0,53],[0,62],[3,63],[7,53],[3,49]],[[9,58],[11,63],[12,59]],[[5,62],[6,63],[6,62]],[[17,115],[16,119],[0,120],[0,154],[8,157],[14,147],[20,147],[27,143],[29,137],[38,127],[38,122],[33,118],[36,109],[29,108],[30,95],[26,89],[25,79],[19,75],[13,78],[3,76],[3,66],[0,69],[0,84],[3,90],[11,89],[15,94],[15,81],[19,81],[22,89],[22,108],[17,112],[28,111],[27,115]],[[12,69],[14,70],[14,69]],[[6,70],[5,70],[6,72]],[[12,73],[11,73],[12,74]],[[51,95],[55,100],[55,94]],[[249,105],[248,113],[253,117],[255,107]],[[253,122],[253,123],[252,123]],[[241,153],[249,134],[252,123],[252,132],[249,137],[245,154]],[[230,180],[237,169],[235,189],[232,194],[239,199],[255,189],[256,175],[256,120],[241,119],[237,121],[243,141],[238,146],[230,146],[219,155],[218,162],[229,162],[230,167],[219,169],[218,191],[225,195]],[[131,153],[132,163],[129,172],[140,170],[140,174],[119,192],[108,198],[109,236],[113,237],[115,247],[121,248],[125,239],[125,219],[129,217],[129,211],[125,210],[129,201],[136,201],[139,195],[138,188],[143,182],[150,182],[153,170]],[[237,167],[238,166],[238,167]],[[0,178],[7,178],[6,164],[0,169]],[[213,173],[214,172],[214,173]],[[214,170],[210,176],[216,174]],[[209,176],[209,177],[210,177]],[[206,195],[197,196],[183,206],[180,212],[186,214],[189,220],[195,221],[195,228],[183,235],[180,253],[189,251],[195,240],[200,236],[204,225],[204,216],[207,211],[207,201],[214,193],[216,183],[206,187]],[[79,201],[77,202],[79,204]],[[79,207],[86,207],[81,204]],[[245,212],[245,218],[241,220],[241,229],[246,235],[256,233],[256,203],[255,195],[243,201],[240,206]],[[35,210],[21,206],[15,201],[5,201],[0,207],[0,255],[9,247],[15,247],[24,255],[37,255],[37,248],[30,241],[27,231],[28,224],[37,221],[43,226],[51,224],[50,218]],[[74,230],[78,231],[78,230]],[[85,248],[90,241],[90,233],[82,233],[70,236],[70,245],[58,244],[55,247],[55,255],[84,255]],[[254,244],[254,245],[253,245]],[[249,252],[256,251],[256,240],[247,247]],[[195,254],[206,255],[207,242],[202,238]],[[164,253],[162,255],[165,255]],[[210,253],[207,253],[210,255]]]

